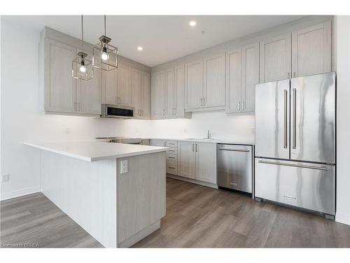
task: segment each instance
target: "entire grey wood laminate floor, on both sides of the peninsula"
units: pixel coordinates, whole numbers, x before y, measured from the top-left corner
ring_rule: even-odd
[[[1,240],[39,247],[102,247],[43,194],[0,203]],[[350,226],[167,178],[162,227],[134,248],[350,247]]]

